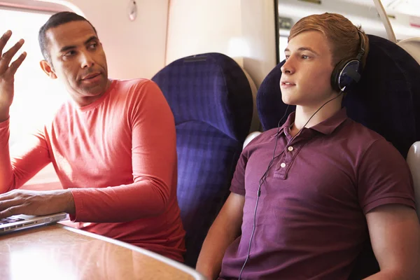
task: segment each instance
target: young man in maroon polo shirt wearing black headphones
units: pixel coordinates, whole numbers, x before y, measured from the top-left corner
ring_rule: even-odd
[[[365,33],[342,15],[311,15],[290,30],[279,86],[296,111],[242,152],[199,272],[209,279],[348,279],[370,237],[381,271],[367,279],[420,279],[407,164],[342,109],[368,51]]]

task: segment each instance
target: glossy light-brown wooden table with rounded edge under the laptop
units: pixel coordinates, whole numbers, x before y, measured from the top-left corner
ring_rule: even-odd
[[[0,279],[204,280],[186,265],[121,241],[65,225],[0,237]]]

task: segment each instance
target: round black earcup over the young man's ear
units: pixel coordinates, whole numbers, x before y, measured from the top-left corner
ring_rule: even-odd
[[[349,90],[349,87],[360,80],[360,61],[358,59],[346,59],[340,61],[331,74],[332,88],[340,92],[344,89]]]

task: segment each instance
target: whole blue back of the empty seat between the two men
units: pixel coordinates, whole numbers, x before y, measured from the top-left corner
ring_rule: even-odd
[[[209,227],[228,197],[250,130],[251,87],[241,67],[220,53],[178,59],[152,80],[174,113],[185,260],[195,267]]]

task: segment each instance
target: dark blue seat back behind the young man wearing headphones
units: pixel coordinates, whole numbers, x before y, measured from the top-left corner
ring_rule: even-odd
[[[343,104],[349,118],[381,134],[405,158],[409,147],[420,140],[420,66],[395,43],[373,35],[369,39],[370,52],[362,78]],[[276,127],[287,107],[279,87],[283,64],[268,74],[258,90],[263,130]],[[289,106],[289,113],[294,110],[295,106]],[[377,271],[379,265],[367,240],[350,279],[362,279]]]

